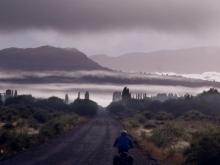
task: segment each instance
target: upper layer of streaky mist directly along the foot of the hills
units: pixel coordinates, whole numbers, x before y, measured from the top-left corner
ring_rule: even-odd
[[[92,83],[220,87],[219,73],[125,73],[119,71],[0,71],[0,82],[14,84]],[[213,81],[215,80],[215,81]]]

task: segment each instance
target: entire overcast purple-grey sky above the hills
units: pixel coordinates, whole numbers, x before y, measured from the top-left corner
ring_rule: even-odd
[[[220,46],[220,1],[0,1],[0,48],[45,44],[112,56]]]

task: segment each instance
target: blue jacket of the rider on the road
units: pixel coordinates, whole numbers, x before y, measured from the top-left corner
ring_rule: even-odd
[[[113,146],[118,148],[119,152],[128,152],[133,148],[133,142],[128,135],[121,135],[115,140]]]

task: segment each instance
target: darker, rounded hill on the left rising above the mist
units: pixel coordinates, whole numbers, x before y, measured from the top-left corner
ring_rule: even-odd
[[[107,70],[77,49],[52,46],[0,50],[1,70]]]

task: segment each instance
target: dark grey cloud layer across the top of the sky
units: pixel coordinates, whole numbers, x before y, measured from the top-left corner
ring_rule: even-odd
[[[0,30],[198,31],[219,19],[217,0],[1,0]]]

